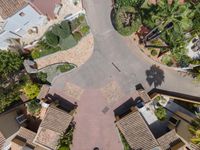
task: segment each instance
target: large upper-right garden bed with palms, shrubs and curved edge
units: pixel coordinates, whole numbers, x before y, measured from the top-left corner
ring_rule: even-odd
[[[132,30],[132,26],[141,22],[148,32],[140,34],[142,36],[138,42],[145,47],[141,49],[146,55],[169,67],[189,66],[192,60],[187,55],[187,44],[200,33],[196,5],[189,1],[173,1],[171,4],[168,1],[157,1],[151,4],[147,0],[116,0],[114,5],[114,25],[120,34],[138,34],[139,26],[135,30]],[[167,51],[169,54],[161,57]]]

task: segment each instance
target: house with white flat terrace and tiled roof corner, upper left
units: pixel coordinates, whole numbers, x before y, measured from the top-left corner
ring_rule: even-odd
[[[0,0],[0,4],[0,49],[8,47],[8,39],[23,38],[46,19],[24,0]]]

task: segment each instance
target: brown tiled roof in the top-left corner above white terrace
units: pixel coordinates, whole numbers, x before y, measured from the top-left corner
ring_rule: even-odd
[[[0,16],[6,19],[27,5],[25,0],[0,0]]]

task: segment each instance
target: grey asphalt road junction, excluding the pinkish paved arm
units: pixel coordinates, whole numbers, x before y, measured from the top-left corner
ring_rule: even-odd
[[[114,30],[110,19],[111,0],[83,0],[83,5],[94,35],[94,53],[80,68],[57,77],[54,87],[62,87],[65,81],[70,81],[85,89],[98,89],[115,80],[125,94],[130,94],[135,85],[141,83],[148,91],[157,87],[200,96],[200,86],[190,77],[182,77],[177,71],[157,64],[154,66],[155,62],[145,58],[136,43],[130,44]]]

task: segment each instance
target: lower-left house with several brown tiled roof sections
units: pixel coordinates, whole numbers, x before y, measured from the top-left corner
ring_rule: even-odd
[[[0,149],[56,150],[58,141],[72,121],[72,116],[56,106],[49,106],[37,132],[16,121],[16,110],[0,116]],[[3,121],[4,120],[4,121]]]

